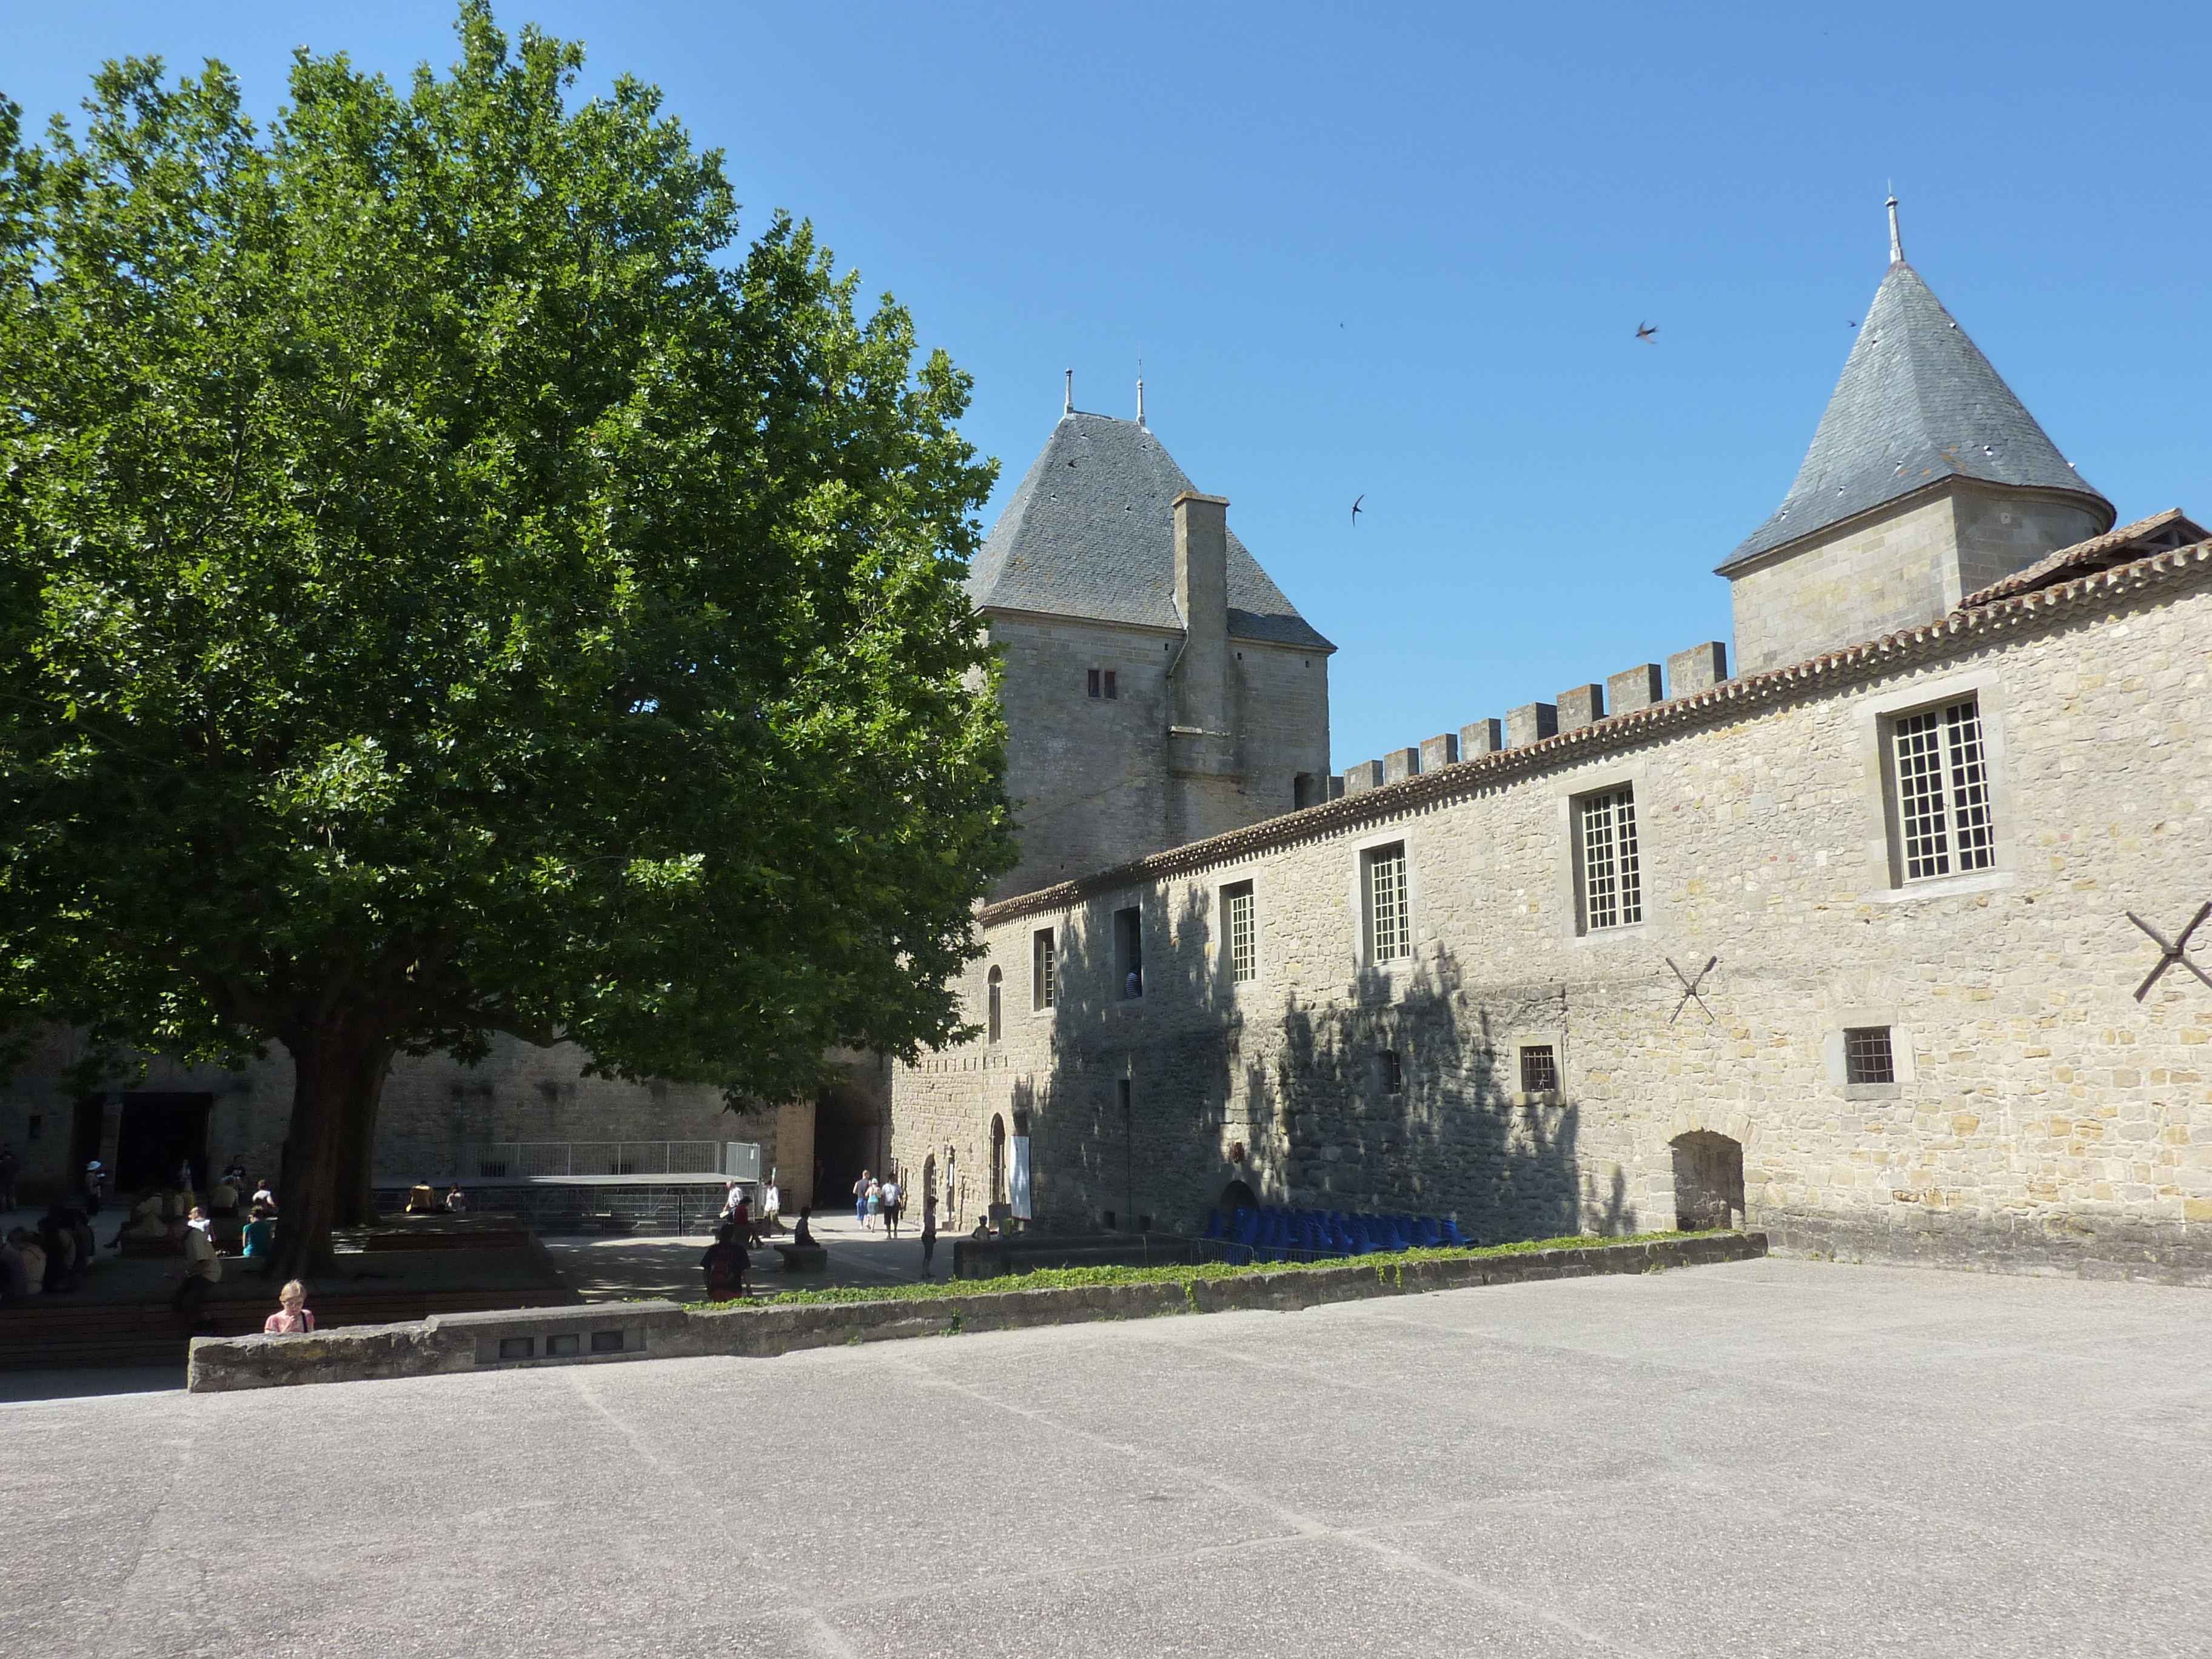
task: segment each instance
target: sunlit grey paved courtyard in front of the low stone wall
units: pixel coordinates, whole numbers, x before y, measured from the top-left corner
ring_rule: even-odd
[[[7,1650],[2203,1655],[2212,1294],[1754,1261],[0,1405]]]

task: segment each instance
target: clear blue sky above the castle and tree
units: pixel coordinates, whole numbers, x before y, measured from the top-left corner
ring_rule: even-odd
[[[1338,770],[1728,637],[1905,248],[2121,518],[2212,513],[2212,9],[504,4],[657,82],[748,221],[812,217],[975,376],[1011,493],[1155,431],[1340,653]],[[20,4],[42,119],[111,55],[403,75],[442,2]],[[1637,323],[1659,336],[1639,345]],[[1349,522],[1352,500],[1367,511]]]

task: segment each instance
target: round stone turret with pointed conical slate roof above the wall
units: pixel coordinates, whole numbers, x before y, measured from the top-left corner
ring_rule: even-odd
[[[1719,566],[1739,672],[1936,622],[2112,518],[1905,263],[1891,199],[1889,270],[1805,465]]]

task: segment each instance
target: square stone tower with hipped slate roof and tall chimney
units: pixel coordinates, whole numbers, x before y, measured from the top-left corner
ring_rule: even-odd
[[[1329,655],[1144,420],[1071,409],[969,575],[1051,887],[1327,799]]]

